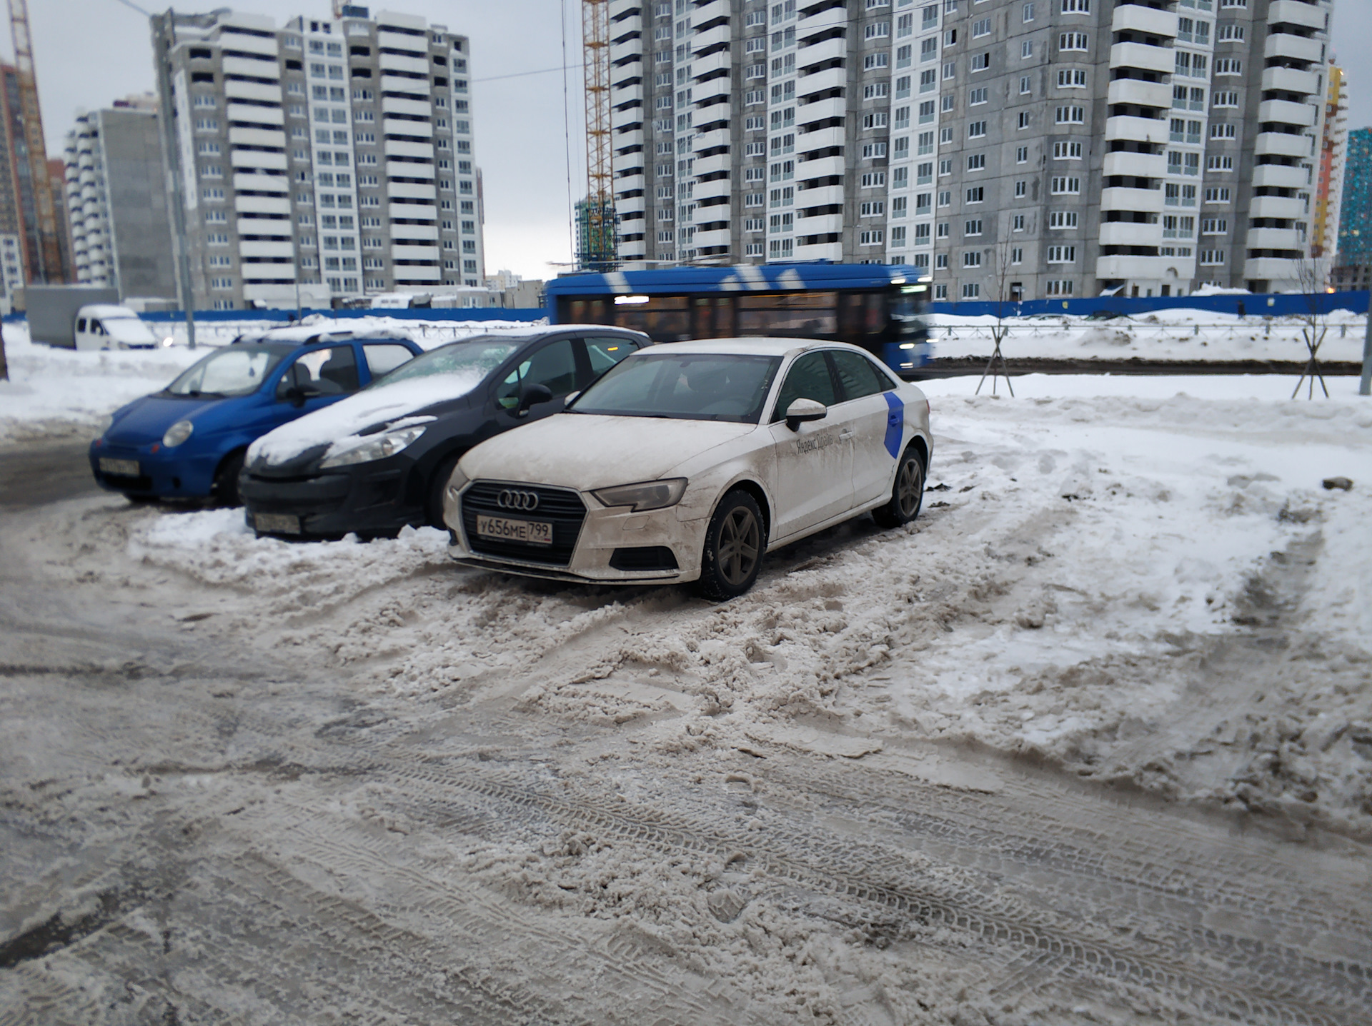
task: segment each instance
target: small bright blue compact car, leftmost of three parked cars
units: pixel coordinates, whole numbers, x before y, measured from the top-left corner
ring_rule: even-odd
[[[96,483],[130,499],[239,503],[248,444],[421,353],[407,337],[285,328],[239,339],[117,410],[91,443]]]

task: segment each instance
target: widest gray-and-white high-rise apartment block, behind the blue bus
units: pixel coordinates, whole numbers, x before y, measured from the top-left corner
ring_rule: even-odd
[[[1324,0],[611,0],[620,258],[912,263],[936,298],[1281,288]]]

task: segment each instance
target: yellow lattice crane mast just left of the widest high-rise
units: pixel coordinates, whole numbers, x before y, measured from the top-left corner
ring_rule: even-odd
[[[586,199],[578,207],[576,263],[615,270],[615,167],[611,162],[609,0],[582,0],[582,67],[586,81]]]

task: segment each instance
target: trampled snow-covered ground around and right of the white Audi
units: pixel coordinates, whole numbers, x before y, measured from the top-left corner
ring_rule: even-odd
[[[239,510],[151,516],[128,551],[250,593],[257,612],[386,595],[380,620],[292,638],[335,636],[343,661],[397,653],[376,679],[387,691],[519,673],[568,635],[627,617],[630,638],[582,653],[527,701],[613,717],[631,704],[589,702],[587,679],[663,673],[697,695],[715,743],[790,737],[797,716],[823,713],[871,727],[862,743],[878,748],[886,732],[971,739],[1173,796],[1372,828],[1358,748],[1372,737],[1372,402],[1356,380],[1334,379],[1334,398],[1314,403],[1291,401],[1283,376],[1036,374],[1015,379],[1014,399],[1004,381],[1000,398],[974,396],[975,381],[923,385],[937,449],[915,527],[863,521],[793,546],[722,606],[676,588],[457,571],[434,529],[368,545],[255,539]],[[1335,476],[1354,488],[1321,487]],[[1191,708],[1210,689],[1198,676],[1224,678],[1221,653],[1268,628],[1302,641],[1257,668],[1235,663],[1261,678],[1243,695]],[[697,743],[672,730],[661,745]],[[1262,775],[1268,742],[1290,750]]]

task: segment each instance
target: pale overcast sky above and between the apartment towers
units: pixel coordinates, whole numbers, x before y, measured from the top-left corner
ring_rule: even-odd
[[[130,0],[165,10],[155,0]],[[472,121],[486,189],[487,272],[509,267],[547,278],[571,258],[563,74],[494,75],[560,67],[563,8],[568,63],[580,63],[580,4],[576,0],[392,0],[384,7],[417,14],[472,38]],[[328,0],[220,0],[188,5],[206,11],[232,5],[270,14],[284,23],[296,14],[327,15]],[[285,14],[283,14],[285,12]],[[37,0],[29,4],[33,51],[49,156],[60,155],[78,107],[107,106],[152,89],[152,45],[147,19],[121,0]],[[1334,48],[1349,67],[1349,128],[1372,126],[1372,67],[1361,62],[1372,44],[1372,1],[1335,0]],[[8,38],[0,51],[10,53]],[[567,73],[571,93],[573,192],[586,192],[580,69]]]

